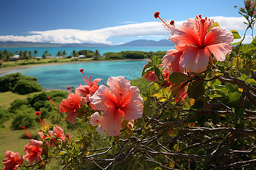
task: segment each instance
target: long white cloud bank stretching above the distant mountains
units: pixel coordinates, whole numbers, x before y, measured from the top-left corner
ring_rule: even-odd
[[[222,28],[244,30],[246,20],[243,17],[211,17],[218,22]],[[175,22],[176,25],[184,21]],[[27,42],[51,42],[51,43],[101,43],[112,44],[108,41],[111,37],[129,37],[129,36],[168,36],[169,31],[163,28],[159,22],[144,22],[119,25],[116,27],[108,27],[94,30],[81,29],[54,29],[48,31],[31,31],[32,35],[28,36],[0,36],[0,41],[27,41]]]

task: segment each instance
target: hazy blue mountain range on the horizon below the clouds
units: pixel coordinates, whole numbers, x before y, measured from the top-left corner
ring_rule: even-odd
[[[134,40],[121,45],[106,44],[54,44],[45,42],[0,42],[0,48],[26,48],[26,47],[108,47],[108,46],[174,46],[174,43],[168,40]]]

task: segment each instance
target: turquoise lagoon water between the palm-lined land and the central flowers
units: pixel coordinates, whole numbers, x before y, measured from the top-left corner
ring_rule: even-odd
[[[92,76],[92,79],[101,78],[103,82],[110,76],[126,76],[132,80],[141,77],[143,65],[146,60],[139,61],[104,61],[104,62],[85,62],[69,63],[64,65],[49,65],[41,67],[31,67],[10,71],[5,74],[20,72],[27,76],[36,76],[38,83],[44,89],[66,90],[69,87],[79,87],[80,83],[84,84],[80,69],[84,69],[85,76]],[[1,74],[5,75],[5,74]]]

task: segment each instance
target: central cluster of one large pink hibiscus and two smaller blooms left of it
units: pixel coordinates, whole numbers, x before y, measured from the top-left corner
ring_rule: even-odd
[[[83,73],[83,69],[80,70]],[[80,85],[76,88],[76,94],[68,95],[68,99],[63,99],[59,111],[67,113],[67,121],[72,124],[76,123],[77,110],[88,101],[95,111],[102,111],[102,117],[99,112],[91,116],[91,124],[97,126],[96,131],[104,136],[104,131],[110,136],[121,134],[121,121],[136,120],[142,117],[143,104],[142,97],[139,95],[138,87],[131,86],[130,81],[124,76],[110,77],[107,86],[98,83],[101,79],[90,81],[85,78],[87,85]]]

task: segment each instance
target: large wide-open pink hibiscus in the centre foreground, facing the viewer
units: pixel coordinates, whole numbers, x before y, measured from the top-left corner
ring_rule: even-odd
[[[124,76],[110,77],[108,87],[101,85],[90,102],[99,111],[104,111],[101,117],[102,129],[110,136],[121,134],[121,121],[135,120],[142,117],[143,104],[138,87],[131,86]]]

